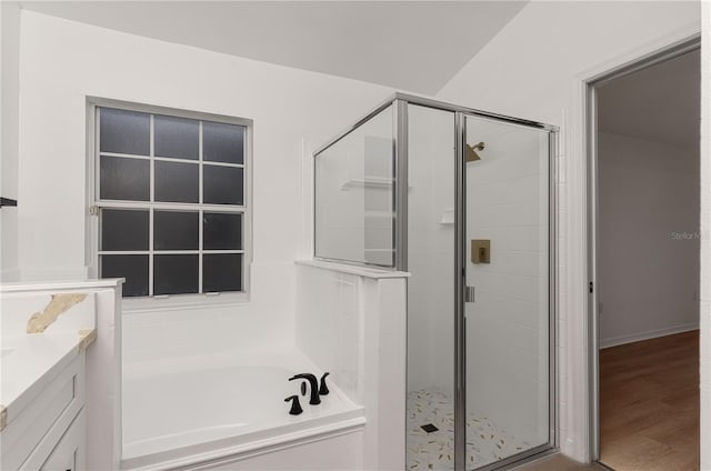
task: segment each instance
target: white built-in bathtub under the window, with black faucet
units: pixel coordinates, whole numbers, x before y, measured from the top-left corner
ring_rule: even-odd
[[[322,373],[296,350],[126,365],[122,468],[184,468],[364,423],[328,380],[320,404],[300,395],[303,413],[290,415],[301,381],[288,379],[304,372]]]

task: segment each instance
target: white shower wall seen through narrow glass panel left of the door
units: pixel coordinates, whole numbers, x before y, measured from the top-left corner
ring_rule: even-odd
[[[408,108],[408,390],[454,391],[454,113]]]

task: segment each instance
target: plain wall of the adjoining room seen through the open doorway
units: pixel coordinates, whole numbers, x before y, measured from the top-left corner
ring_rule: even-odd
[[[600,345],[699,327],[699,149],[601,132]]]

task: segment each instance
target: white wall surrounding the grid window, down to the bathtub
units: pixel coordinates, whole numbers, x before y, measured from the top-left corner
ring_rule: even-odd
[[[20,268],[87,273],[86,97],[253,119],[253,264],[247,304],[124,314],[130,361],[293,343],[296,270],[310,236],[302,161],[391,90],[23,10]],[[4,211],[4,210],[3,210]]]

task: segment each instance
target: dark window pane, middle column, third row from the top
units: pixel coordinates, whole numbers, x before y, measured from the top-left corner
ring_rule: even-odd
[[[198,212],[154,211],[153,249],[198,250]]]

